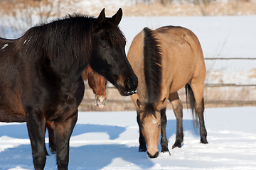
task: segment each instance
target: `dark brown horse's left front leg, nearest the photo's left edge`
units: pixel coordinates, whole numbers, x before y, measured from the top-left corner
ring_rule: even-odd
[[[41,112],[33,110],[32,107],[26,109],[26,124],[28,135],[31,140],[34,168],[43,169],[46,164],[46,144],[45,127],[46,122],[41,117]]]

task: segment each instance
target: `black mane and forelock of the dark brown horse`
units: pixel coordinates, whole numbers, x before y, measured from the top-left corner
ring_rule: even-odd
[[[35,26],[21,37],[24,40],[23,48],[60,64],[87,62],[90,56],[86,55],[90,55],[92,49],[91,34],[95,20],[95,17],[74,13]],[[105,24],[112,44],[126,42],[117,26],[110,21]]]

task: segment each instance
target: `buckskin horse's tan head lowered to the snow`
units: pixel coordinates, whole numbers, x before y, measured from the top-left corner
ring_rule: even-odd
[[[164,98],[165,101],[165,98]],[[161,101],[158,104],[141,103],[137,99],[139,108],[139,120],[142,135],[147,145],[147,154],[150,158],[156,158],[159,155],[158,143],[161,134],[161,107],[164,104]]]

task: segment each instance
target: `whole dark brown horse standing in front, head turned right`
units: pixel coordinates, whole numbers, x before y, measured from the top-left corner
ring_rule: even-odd
[[[138,79],[125,55],[121,18],[121,8],[112,18],[103,9],[98,18],[75,14],[30,28],[16,40],[0,39],[0,121],[26,122],[35,169],[46,164],[48,121],[55,125],[58,169],[68,169],[88,64],[123,96],[135,93]]]

